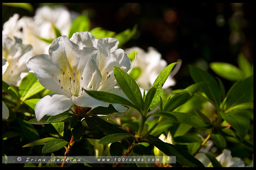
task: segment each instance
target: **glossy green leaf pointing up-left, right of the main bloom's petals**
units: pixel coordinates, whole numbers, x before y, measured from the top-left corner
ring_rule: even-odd
[[[136,81],[132,78],[131,75],[121,70],[121,68],[114,66],[114,75],[116,81],[120,88],[123,90],[124,94],[131,100],[131,102],[144,110],[144,102],[140,92],[140,88]]]

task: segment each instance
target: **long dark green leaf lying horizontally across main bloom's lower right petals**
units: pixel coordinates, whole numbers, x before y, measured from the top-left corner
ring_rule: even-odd
[[[112,93],[108,93],[105,91],[96,91],[96,90],[84,90],[84,91],[88,95],[92,96],[93,98],[96,98],[97,100],[100,100],[103,102],[108,102],[112,104],[122,104],[125,106],[133,107],[135,109],[139,109],[134,104],[132,104],[132,102],[130,102],[129,100]]]

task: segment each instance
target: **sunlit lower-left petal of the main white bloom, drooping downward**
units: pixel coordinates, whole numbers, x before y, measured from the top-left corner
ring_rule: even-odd
[[[64,95],[50,94],[40,99],[35,107],[36,120],[39,121],[48,114],[55,116],[67,111],[72,106],[72,101]]]

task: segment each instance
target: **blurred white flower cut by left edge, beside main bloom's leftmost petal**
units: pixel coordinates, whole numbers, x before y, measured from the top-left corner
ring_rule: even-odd
[[[26,64],[34,54],[31,45],[17,41],[2,35],[2,80],[18,87],[22,78],[28,74]]]

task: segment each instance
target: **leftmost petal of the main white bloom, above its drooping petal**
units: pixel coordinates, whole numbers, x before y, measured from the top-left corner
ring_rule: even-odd
[[[52,74],[55,76],[59,70],[52,63],[49,55],[39,54],[30,58],[27,63],[27,67],[28,71],[34,73],[40,84],[46,89],[49,89],[54,93],[66,95],[66,93],[61,90],[61,86],[52,77]]]

